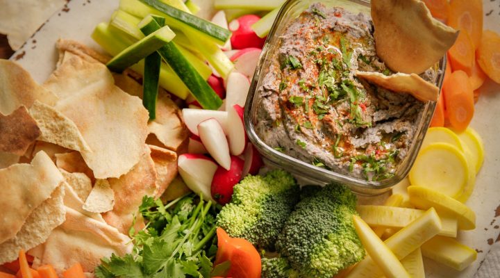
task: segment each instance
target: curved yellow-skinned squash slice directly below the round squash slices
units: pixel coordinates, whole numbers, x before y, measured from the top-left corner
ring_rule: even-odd
[[[468,206],[431,188],[423,186],[408,187],[410,202],[420,209],[435,208],[443,216],[458,220],[458,229],[476,228],[476,213]]]

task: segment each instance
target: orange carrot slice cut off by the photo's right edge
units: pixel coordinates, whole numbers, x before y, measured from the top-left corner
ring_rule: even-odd
[[[500,83],[500,35],[494,31],[485,30],[476,54],[481,70],[490,79]]]

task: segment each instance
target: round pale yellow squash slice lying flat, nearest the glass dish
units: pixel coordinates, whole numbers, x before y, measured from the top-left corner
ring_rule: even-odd
[[[409,178],[412,186],[433,188],[457,198],[467,189],[469,167],[463,152],[453,145],[432,143],[420,151]]]

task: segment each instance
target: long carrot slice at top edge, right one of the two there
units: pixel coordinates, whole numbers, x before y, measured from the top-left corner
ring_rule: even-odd
[[[451,0],[448,25],[467,31],[476,49],[483,34],[483,0]]]

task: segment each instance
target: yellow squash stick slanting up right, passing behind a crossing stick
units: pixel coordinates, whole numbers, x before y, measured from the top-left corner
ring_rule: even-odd
[[[433,238],[442,229],[441,220],[434,208],[429,209],[422,217],[411,222],[396,234],[384,241],[385,245],[398,259],[403,259],[415,251],[427,240]],[[347,277],[381,277],[384,275],[371,256],[360,261]]]

